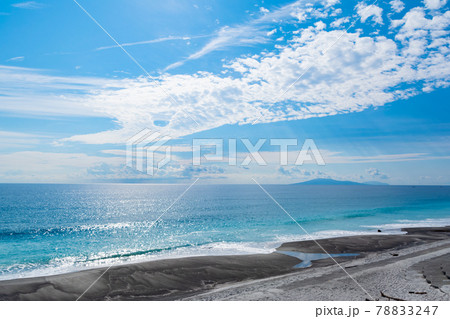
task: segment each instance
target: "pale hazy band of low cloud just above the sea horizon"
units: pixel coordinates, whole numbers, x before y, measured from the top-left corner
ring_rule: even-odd
[[[187,146],[186,146],[187,147]],[[186,148],[187,150],[187,148]],[[423,153],[411,154],[379,154],[373,156],[344,155],[337,152],[321,150],[321,154],[328,164],[354,164],[381,163],[381,162],[405,162],[422,161],[432,159],[449,159],[449,156],[430,156]],[[280,167],[278,152],[261,152],[269,166],[249,165],[227,166],[227,161],[217,161],[204,163],[202,166],[193,166],[191,160],[171,161],[168,165],[157,171],[155,176],[149,176],[135,171],[125,166],[125,151],[121,149],[105,150],[102,153],[106,156],[92,156],[82,153],[56,153],[22,151],[11,154],[0,154],[0,178],[4,182],[88,182],[93,180],[126,180],[126,179],[192,179],[202,177],[202,179],[223,179],[231,182],[248,183],[248,176],[259,176],[271,182],[285,182],[286,176],[292,178],[304,177],[312,178],[337,178],[349,179],[349,177],[338,176],[336,173],[328,171],[327,167],[321,170],[315,169],[314,163],[305,163],[303,166],[283,166]],[[111,156],[117,155],[117,156]],[[240,163],[248,153],[238,153],[238,163]],[[288,153],[289,163],[294,163],[298,151]],[[267,167],[271,169],[268,170]],[[278,168],[278,172],[276,172]],[[322,171],[323,169],[323,171]],[[327,171],[325,171],[327,170]],[[257,173],[256,173],[257,172]],[[378,169],[367,169],[366,174],[372,178],[390,178],[387,174]],[[356,177],[351,177],[354,179]]]

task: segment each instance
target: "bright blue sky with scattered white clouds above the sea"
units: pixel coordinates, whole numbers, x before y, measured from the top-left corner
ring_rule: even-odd
[[[449,185],[449,26],[447,0],[3,0],[0,182]],[[194,165],[199,139],[223,156]]]

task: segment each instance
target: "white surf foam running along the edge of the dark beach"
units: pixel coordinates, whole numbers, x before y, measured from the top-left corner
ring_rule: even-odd
[[[367,230],[349,231],[349,230],[324,230],[310,233],[310,235],[302,234],[299,229],[299,235],[283,235],[276,236],[273,240],[266,242],[216,242],[199,246],[182,247],[169,251],[157,253],[149,253],[140,256],[131,256],[126,258],[108,258],[113,254],[132,253],[132,251],[122,252],[102,252],[97,255],[86,257],[64,257],[55,258],[46,265],[37,264],[16,264],[11,265],[0,273],[0,280],[48,276],[62,273],[75,272],[80,270],[108,267],[110,265],[120,265],[128,263],[137,263],[143,261],[152,261],[160,259],[184,258],[194,256],[223,256],[223,255],[246,255],[246,254],[268,254],[282,243],[292,241],[303,241],[310,239],[335,238],[343,236],[358,236],[369,234],[398,234],[402,233],[401,228],[405,227],[438,227],[450,225],[450,218],[441,219],[425,219],[425,220],[396,220],[395,223],[381,225],[361,226]],[[108,227],[120,228],[128,227],[127,224],[110,224]],[[378,233],[375,229],[382,230]]]

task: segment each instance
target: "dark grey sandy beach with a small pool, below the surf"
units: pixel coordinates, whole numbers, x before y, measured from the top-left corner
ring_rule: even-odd
[[[403,231],[318,240],[339,265],[314,241],[289,242],[1,281],[0,300],[449,300],[450,227]]]

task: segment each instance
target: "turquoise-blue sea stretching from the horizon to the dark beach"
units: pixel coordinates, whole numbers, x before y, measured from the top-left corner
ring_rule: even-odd
[[[0,184],[0,279],[308,239],[257,185]],[[450,224],[450,187],[267,185],[315,238]]]

